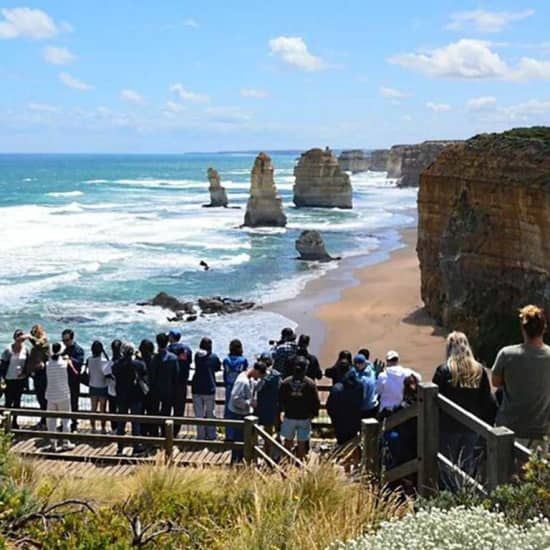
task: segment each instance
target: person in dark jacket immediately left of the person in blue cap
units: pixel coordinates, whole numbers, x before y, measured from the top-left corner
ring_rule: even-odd
[[[178,384],[178,358],[168,351],[169,339],[164,332],[157,334],[157,354],[151,360],[149,368],[149,385],[151,399],[156,414],[172,416],[176,402],[176,388]],[[157,426],[156,431],[158,433]],[[164,426],[160,426],[164,436]]]

